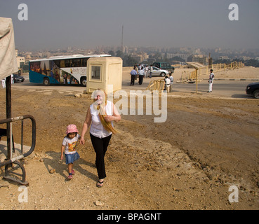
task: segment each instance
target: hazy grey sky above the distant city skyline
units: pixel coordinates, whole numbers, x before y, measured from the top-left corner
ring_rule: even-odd
[[[0,16],[13,19],[20,50],[120,46],[122,25],[127,46],[259,48],[259,0],[0,0]]]

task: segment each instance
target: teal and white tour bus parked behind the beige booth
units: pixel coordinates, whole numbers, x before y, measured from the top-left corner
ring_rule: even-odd
[[[86,86],[86,65],[90,57],[111,55],[64,55],[29,61],[29,82]]]

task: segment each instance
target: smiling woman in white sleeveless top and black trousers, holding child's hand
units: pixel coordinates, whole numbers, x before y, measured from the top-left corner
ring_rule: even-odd
[[[107,97],[102,90],[93,92],[94,103],[91,104],[86,113],[86,120],[81,132],[80,144],[85,144],[84,135],[90,127],[90,137],[96,153],[95,165],[98,172],[99,181],[96,183],[98,188],[102,187],[106,177],[105,173],[105,153],[109,145],[112,134],[116,134],[113,121],[119,122],[121,116],[116,106],[106,100]]]

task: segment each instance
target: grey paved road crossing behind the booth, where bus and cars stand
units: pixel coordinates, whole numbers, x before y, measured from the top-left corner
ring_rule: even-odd
[[[155,78],[159,79],[159,78]],[[150,78],[145,78],[142,85],[138,84],[138,80],[135,81],[134,86],[130,86],[130,80],[122,81],[122,90],[129,92],[130,90],[145,90],[150,83]],[[253,80],[214,80],[213,83],[213,92],[208,93],[208,82],[207,80],[201,81],[198,83],[198,93],[203,95],[211,95],[218,97],[230,97],[230,98],[244,98],[244,99],[253,99],[250,95],[246,94],[246,85],[253,83]],[[25,79],[24,83],[15,83],[12,85],[12,88],[17,89],[40,89],[40,90],[69,90],[76,92],[83,92],[86,90],[86,87],[81,87],[77,85],[49,85],[44,86],[41,84],[29,83],[29,79]],[[170,94],[190,94],[196,93],[196,84],[195,83],[174,83],[173,92]]]

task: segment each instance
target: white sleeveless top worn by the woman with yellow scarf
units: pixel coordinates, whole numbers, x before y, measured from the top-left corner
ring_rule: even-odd
[[[107,100],[107,104],[105,106],[105,112],[107,115],[112,116],[112,102]],[[91,117],[92,117],[92,124],[90,127],[90,133],[93,134],[93,136],[98,138],[105,138],[108,137],[112,132],[108,132],[105,130],[105,127],[103,127],[100,118],[99,118],[99,111],[94,108],[93,104],[90,106],[91,111]],[[112,123],[112,122],[111,122]],[[113,123],[112,123],[113,127]]]

